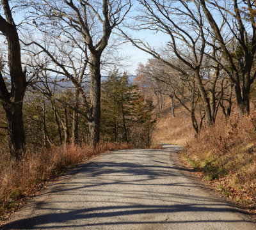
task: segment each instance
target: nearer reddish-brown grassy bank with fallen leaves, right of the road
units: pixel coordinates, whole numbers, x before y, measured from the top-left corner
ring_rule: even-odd
[[[184,157],[223,194],[256,208],[256,112],[218,121],[186,144]]]

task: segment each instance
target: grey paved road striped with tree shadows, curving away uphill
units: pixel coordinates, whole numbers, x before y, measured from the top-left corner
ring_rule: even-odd
[[[165,147],[113,151],[79,166],[4,229],[256,229],[189,178],[179,146]]]

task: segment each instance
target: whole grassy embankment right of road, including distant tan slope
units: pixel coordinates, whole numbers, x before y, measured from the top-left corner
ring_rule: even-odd
[[[153,134],[154,142],[181,144],[182,158],[216,190],[252,210],[256,208],[256,112],[227,121],[218,118],[198,137],[186,112],[176,118],[166,110]]]

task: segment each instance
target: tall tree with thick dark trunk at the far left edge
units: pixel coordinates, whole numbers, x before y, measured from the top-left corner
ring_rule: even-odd
[[[22,105],[26,91],[26,73],[22,71],[19,34],[12,17],[8,0],[1,0],[4,16],[0,15],[0,31],[8,45],[8,73],[0,71],[0,99],[8,121],[10,153],[20,158],[25,150],[25,135],[22,120]],[[10,75],[10,89],[6,87],[5,75]],[[9,79],[9,78],[8,78]]]

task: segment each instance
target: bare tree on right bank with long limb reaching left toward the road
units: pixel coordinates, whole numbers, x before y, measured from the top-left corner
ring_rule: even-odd
[[[205,75],[202,72],[205,53],[211,52],[211,50],[205,48],[209,43],[207,41],[209,31],[204,29],[200,4],[196,1],[155,0],[139,0],[139,3],[143,6],[143,13],[136,17],[138,23],[130,28],[150,29],[156,33],[161,31],[170,36],[170,42],[163,50],[157,50],[150,47],[148,43],[131,38],[124,31],[122,31],[123,36],[134,46],[148,52],[181,75],[186,75],[191,81],[195,81],[204,104],[206,123],[211,125],[215,122],[216,107],[212,106],[214,104],[209,98],[208,89],[205,86]],[[173,61],[175,59],[179,59],[179,62],[175,63]],[[191,70],[191,72],[186,70]],[[216,68],[215,76],[215,79],[218,79],[218,68]],[[216,81],[212,82],[212,92],[214,92],[214,82]]]

